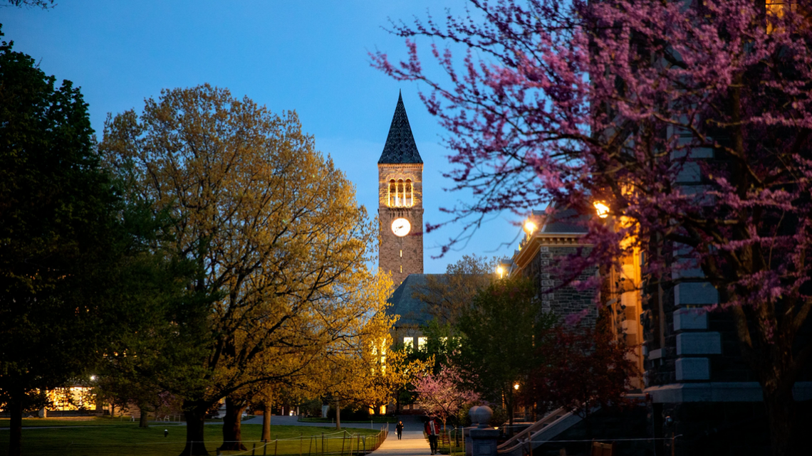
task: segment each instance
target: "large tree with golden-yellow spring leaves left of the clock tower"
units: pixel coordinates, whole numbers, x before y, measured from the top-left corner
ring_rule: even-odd
[[[204,353],[188,359],[197,370],[162,385],[184,398],[184,454],[207,454],[192,442],[220,398],[303,375],[326,346],[364,337],[385,305],[364,293],[382,280],[365,267],[374,227],[296,113],[209,85],[165,90],[142,114],[110,118],[101,148],[110,166],[132,170],[156,213],[171,214],[172,250],[198,265],[193,287],[215,298]]]

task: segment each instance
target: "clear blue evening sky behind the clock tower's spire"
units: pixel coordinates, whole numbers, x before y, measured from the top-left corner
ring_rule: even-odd
[[[425,163],[424,221],[437,223],[448,217],[440,207],[471,195],[443,191],[451,185],[441,175],[449,169],[444,131],[418,98],[421,87],[370,67],[367,52],[381,49],[399,61],[404,41],[382,29],[387,18],[410,21],[427,10],[442,17],[445,7],[464,13],[460,0],[58,0],[50,11],[2,6],[0,23],[15,50],[81,87],[98,135],[107,113],[140,110],[162,88],[209,83],[274,112],[296,110],[317,148],[355,183],[370,216],[378,208],[378,157],[402,90]],[[464,254],[509,255],[519,231],[510,220],[516,217],[494,217],[466,246],[436,260],[438,246],[460,227],[426,234],[425,273],[442,273]]]

